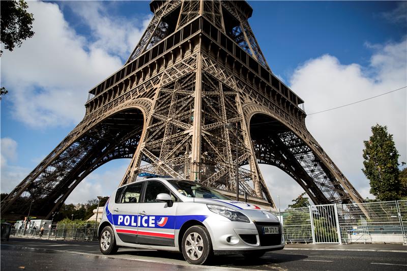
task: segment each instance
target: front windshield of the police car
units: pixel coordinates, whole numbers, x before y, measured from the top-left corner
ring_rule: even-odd
[[[214,199],[229,199],[219,192],[198,183],[190,182],[188,180],[175,180],[171,179],[168,182],[175,187],[182,195],[192,198],[214,198]]]

